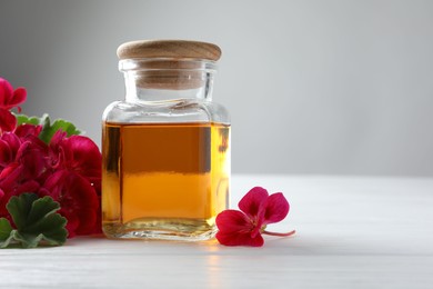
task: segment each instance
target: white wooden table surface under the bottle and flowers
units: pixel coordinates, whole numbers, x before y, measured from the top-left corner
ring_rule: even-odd
[[[433,288],[433,178],[233,176],[232,207],[254,186],[284,192],[269,229],[294,237],[0,250],[0,288]]]

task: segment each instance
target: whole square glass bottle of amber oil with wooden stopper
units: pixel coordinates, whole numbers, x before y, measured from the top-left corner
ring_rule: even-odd
[[[230,118],[212,101],[219,47],[119,47],[123,101],[102,119],[102,229],[109,238],[207,240],[229,207]]]

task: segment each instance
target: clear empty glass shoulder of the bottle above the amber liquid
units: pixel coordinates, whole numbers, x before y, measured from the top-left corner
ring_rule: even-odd
[[[104,110],[102,120],[119,123],[218,122],[230,124],[230,114],[223,106],[211,101],[114,101]]]

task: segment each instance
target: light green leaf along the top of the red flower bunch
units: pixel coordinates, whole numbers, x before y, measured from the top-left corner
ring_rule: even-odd
[[[51,123],[50,117],[47,113],[44,113],[41,118],[28,117],[24,114],[17,114],[16,117],[18,124],[30,123],[42,126],[42,131],[39,134],[39,138],[46,143],[50,142],[52,136],[54,136],[59,129],[67,132],[68,137],[82,133],[82,131],[80,131],[72,122],[63,119],[57,119],[53,123]]]

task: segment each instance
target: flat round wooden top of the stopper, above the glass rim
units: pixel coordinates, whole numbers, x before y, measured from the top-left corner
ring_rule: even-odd
[[[189,40],[139,40],[121,44],[119,59],[173,58],[218,61],[221,49],[212,43]]]

